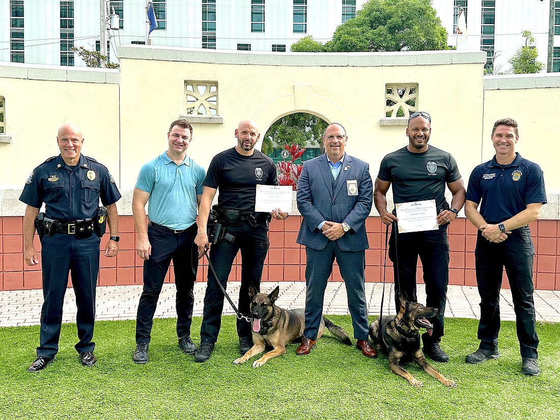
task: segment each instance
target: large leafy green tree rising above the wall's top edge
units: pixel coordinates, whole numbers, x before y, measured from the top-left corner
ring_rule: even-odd
[[[298,51],[305,45],[298,45]],[[356,17],[337,27],[333,39],[324,45],[325,51],[332,52],[445,49],[449,49],[447,32],[431,0],[370,0]]]

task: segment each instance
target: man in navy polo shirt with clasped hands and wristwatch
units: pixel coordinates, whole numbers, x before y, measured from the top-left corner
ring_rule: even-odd
[[[500,287],[506,269],[514,300],[517,338],[525,375],[540,373],[536,348],[533,301],[533,255],[529,223],[539,217],[547,202],[543,171],[539,165],[515,152],[519,141],[517,123],[504,118],[494,123],[492,143],[496,155],[478,165],[469,179],[465,214],[478,228],[475,267],[480,294],[477,351],[467,354],[466,362],[482,363],[500,357]],[[477,210],[478,204],[480,210]]]

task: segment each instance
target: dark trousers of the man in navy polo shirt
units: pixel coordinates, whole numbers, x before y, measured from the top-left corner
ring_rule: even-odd
[[[515,326],[521,357],[538,356],[536,348],[539,346],[539,338],[536,335],[533,301],[534,253],[528,226],[512,231],[507,239],[499,244],[487,241],[482,232],[478,232],[475,264],[480,294],[480,348],[498,349],[500,288],[505,268],[514,301]]]

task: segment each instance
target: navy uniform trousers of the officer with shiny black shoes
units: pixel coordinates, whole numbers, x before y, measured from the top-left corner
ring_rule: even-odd
[[[74,235],[44,236],[41,242],[43,265],[43,296],[41,310],[40,345],[37,356],[54,357],[58,352],[64,293],[68,287],[68,273],[76,293],[76,324],[78,339],[74,346],[78,353],[94,351],[95,287],[99,272],[99,236],[86,239]]]

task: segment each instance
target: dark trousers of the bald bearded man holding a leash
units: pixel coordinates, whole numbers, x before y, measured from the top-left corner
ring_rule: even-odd
[[[264,259],[267,256],[269,241],[268,227],[263,223],[251,225],[248,220],[237,221],[226,225],[227,233],[234,235],[235,240],[222,240],[210,248],[210,261],[218,278],[208,268],[208,284],[204,295],[204,311],[200,326],[200,342],[216,343],[222,323],[223,295],[217,281],[227,288],[227,279],[235,257],[241,251],[241,287],[239,290],[238,309],[243,315],[249,315],[249,284],[260,290],[260,279],[263,275]],[[244,319],[237,319],[237,335],[251,337],[251,324]]]

